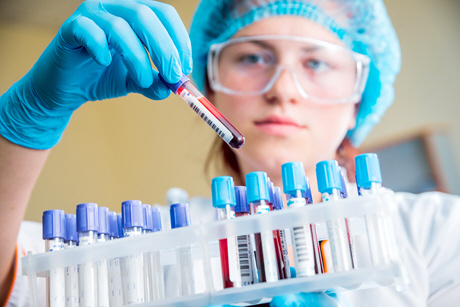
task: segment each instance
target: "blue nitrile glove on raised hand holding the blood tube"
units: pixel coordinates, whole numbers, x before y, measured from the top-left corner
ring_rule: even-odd
[[[48,149],[86,101],[140,93],[168,97],[192,70],[187,30],[177,12],[151,0],[86,1],[61,26],[32,69],[0,97],[0,134]]]

